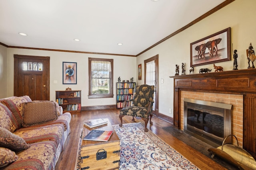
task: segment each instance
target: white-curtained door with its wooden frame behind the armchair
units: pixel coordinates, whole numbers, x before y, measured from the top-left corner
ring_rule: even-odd
[[[154,63],[154,68],[147,68],[147,63]],[[153,72],[153,78],[148,78],[147,72],[150,74]],[[154,115],[158,116],[158,55],[144,60],[144,75],[144,83],[155,86],[154,107],[152,112]]]

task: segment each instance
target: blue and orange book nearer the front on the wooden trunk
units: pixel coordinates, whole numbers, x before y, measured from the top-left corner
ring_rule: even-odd
[[[113,131],[100,131],[92,130],[90,131],[83,140],[86,141],[103,141],[106,142],[113,134]]]

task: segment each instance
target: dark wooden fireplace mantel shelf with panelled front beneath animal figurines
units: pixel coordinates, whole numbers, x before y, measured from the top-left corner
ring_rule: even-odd
[[[256,93],[256,69],[231,70],[170,76],[174,88],[219,91],[223,93]]]

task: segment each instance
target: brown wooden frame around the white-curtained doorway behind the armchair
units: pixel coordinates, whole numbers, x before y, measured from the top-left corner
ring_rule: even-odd
[[[158,55],[155,55],[153,57],[150,57],[149,59],[144,60],[144,84],[146,83],[146,63],[150,62],[150,61],[155,61],[155,66],[156,66],[156,84],[155,84],[155,88],[156,88],[156,105],[155,105],[155,115],[158,117]]]

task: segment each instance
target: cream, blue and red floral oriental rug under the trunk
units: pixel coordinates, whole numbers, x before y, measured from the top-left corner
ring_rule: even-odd
[[[120,139],[120,170],[199,170],[152,131],[145,132],[141,123],[113,128]],[[80,146],[75,170],[80,170]]]

